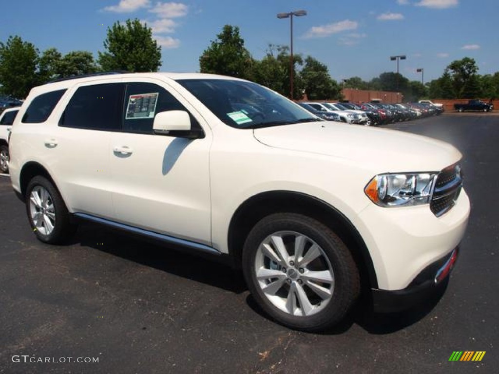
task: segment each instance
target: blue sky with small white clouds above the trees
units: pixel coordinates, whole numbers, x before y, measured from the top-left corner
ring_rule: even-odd
[[[246,47],[261,59],[269,44],[289,45],[311,55],[337,81],[364,80],[396,71],[391,55],[406,55],[400,73],[425,82],[449,63],[475,58],[480,74],[499,71],[498,0],[18,0],[2,6],[0,41],[19,35],[40,51],[103,51],[106,30],[116,21],[139,18],[162,45],[161,71],[199,71],[199,56],[225,24],[239,26]]]

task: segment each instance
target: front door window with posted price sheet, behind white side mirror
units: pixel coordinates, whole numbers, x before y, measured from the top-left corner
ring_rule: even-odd
[[[156,113],[168,110],[187,109],[171,93],[153,83],[133,82],[127,84],[123,114],[123,131],[131,133],[153,133]],[[191,116],[191,123],[194,123]]]

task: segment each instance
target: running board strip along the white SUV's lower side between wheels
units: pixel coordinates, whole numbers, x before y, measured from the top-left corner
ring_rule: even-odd
[[[182,245],[184,247],[188,247],[188,248],[191,248],[191,249],[194,249],[197,251],[210,253],[210,254],[216,254],[216,255],[222,254],[222,252],[216,250],[213,247],[210,247],[210,246],[205,245],[205,244],[196,243],[194,241],[179,239],[179,238],[176,238],[174,236],[169,236],[169,235],[160,234],[160,233],[149,231],[149,230],[144,230],[143,228],[129,226],[129,225],[126,225],[124,223],[118,223],[118,222],[114,222],[114,221],[111,221],[108,219],[95,217],[95,216],[90,215],[90,214],[74,213],[73,215],[77,218],[81,218],[81,219],[85,219],[88,221],[104,224],[106,226],[110,226],[110,227],[118,228],[120,230],[132,232],[134,234],[146,236],[146,237],[149,237],[149,238],[152,238],[155,240],[164,241],[166,243]]]

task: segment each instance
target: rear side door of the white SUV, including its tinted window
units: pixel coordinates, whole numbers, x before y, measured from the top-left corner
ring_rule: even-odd
[[[74,88],[57,130],[46,136],[45,151],[72,212],[113,216],[109,144],[121,131],[124,88],[120,79]]]

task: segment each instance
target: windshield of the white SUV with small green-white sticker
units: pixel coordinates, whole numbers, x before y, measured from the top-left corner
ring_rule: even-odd
[[[322,121],[292,101],[256,83],[229,79],[177,81],[222,122],[238,129]]]

